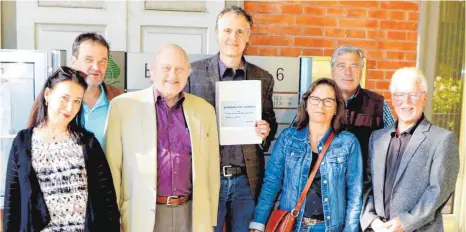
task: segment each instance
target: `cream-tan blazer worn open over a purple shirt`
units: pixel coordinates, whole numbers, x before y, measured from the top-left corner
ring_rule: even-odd
[[[185,93],[183,110],[191,135],[193,231],[217,224],[220,191],[219,143],[214,108]],[[105,131],[125,232],[151,232],[157,196],[157,121],[153,87],[126,93],[110,104]]]

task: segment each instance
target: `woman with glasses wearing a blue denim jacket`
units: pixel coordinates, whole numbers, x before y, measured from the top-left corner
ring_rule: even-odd
[[[315,81],[303,95],[295,127],[285,129],[275,144],[250,224],[264,231],[275,200],[291,211],[297,204],[325,141],[335,138],[296,218],[294,231],[359,231],[362,206],[362,155],[356,137],[339,132],[344,100],[331,79]]]

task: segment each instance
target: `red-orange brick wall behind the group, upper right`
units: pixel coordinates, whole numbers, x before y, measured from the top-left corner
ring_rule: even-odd
[[[254,20],[248,55],[331,56],[341,45],[365,51],[366,88],[389,100],[393,72],[416,65],[418,2],[245,1]]]

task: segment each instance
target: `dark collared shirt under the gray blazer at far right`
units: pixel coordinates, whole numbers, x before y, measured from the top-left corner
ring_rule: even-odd
[[[384,181],[384,204],[385,204],[385,218],[390,218],[390,199],[392,195],[393,185],[395,184],[396,174],[398,173],[398,168],[400,167],[401,158],[403,153],[408,146],[409,140],[413,135],[416,128],[424,120],[424,115],[417,120],[416,124],[407,130],[401,132],[398,131],[398,123],[395,123],[396,131],[391,133],[390,146],[388,148],[387,159],[386,159],[386,168],[385,168],[385,181]]]

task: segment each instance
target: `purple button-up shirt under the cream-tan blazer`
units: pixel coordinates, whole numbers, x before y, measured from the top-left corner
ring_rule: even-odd
[[[168,107],[154,86],[157,114],[157,195],[190,195],[191,136],[184,118],[183,92],[177,103]]]

